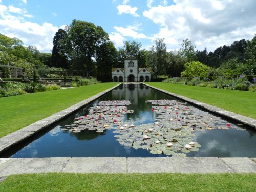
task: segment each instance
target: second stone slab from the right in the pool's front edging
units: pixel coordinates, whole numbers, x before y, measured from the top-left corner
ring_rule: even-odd
[[[177,173],[232,173],[233,170],[217,157],[172,158]]]

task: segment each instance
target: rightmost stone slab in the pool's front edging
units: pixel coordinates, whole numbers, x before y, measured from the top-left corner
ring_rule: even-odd
[[[255,173],[256,163],[247,157],[222,157],[221,158],[234,172]],[[255,158],[254,158],[255,159]]]

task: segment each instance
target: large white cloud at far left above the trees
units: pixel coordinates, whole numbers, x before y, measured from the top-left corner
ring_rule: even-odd
[[[1,33],[8,37],[16,37],[24,42],[25,46],[33,45],[41,52],[50,52],[52,40],[58,27],[50,23],[37,24],[30,22],[25,9],[9,5],[0,5],[0,29]]]

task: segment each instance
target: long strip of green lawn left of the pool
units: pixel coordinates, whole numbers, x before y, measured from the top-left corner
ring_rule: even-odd
[[[100,83],[0,98],[0,137],[49,117],[116,84]]]

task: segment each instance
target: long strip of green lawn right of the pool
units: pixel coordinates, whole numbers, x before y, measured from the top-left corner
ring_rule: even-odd
[[[256,92],[186,86],[163,82],[148,85],[256,119]]]

